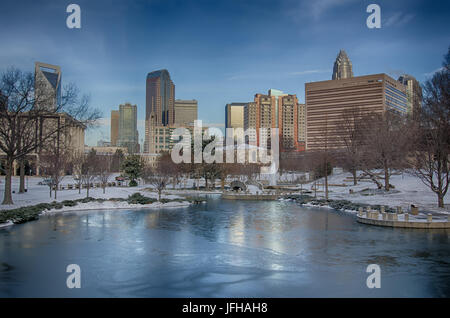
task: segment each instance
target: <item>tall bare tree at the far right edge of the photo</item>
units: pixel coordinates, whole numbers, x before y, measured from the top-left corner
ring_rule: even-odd
[[[443,66],[424,85],[410,158],[413,174],[436,193],[441,208],[450,183],[450,48]]]

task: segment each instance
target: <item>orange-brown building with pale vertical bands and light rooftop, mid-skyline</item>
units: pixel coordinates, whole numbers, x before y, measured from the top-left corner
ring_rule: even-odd
[[[296,95],[270,89],[267,95],[256,94],[254,102],[244,107],[244,129],[253,128],[246,137],[247,142],[261,146],[267,140],[270,147],[271,129],[279,129],[280,151],[302,151],[303,143],[299,140],[299,103]],[[266,135],[261,135],[260,128],[266,128]]]

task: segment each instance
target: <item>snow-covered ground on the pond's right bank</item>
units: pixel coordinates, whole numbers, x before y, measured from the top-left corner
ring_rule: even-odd
[[[323,179],[319,180],[318,183],[323,184]],[[354,186],[350,173],[333,174],[328,178],[328,183],[331,185],[329,186],[330,199],[349,200],[367,205],[401,206],[404,211],[409,211],[411,204],[414,204],[419,207],[421,212],[450,214],[448,193],[444,197],[445,208],[438,208],[437,195],[417,177],[408,173],[393,175],[390,184],[394,185],[395,189],[389,192],[376,191],[377,186],[372,181],[367,180],[359,181],[358,185]],[[345,186],[337,186],[342,184],[345,184]],[[311,190],[312,186],[313,183],[308,183],[303,185],[303,189]],[[367,188],[370,190],[360,192]],[[350,189],[353,190],[353,194],[350,194]],[[324,197],[323,186],[318,186],[318,190],[321,192],[318,192],[317,196]]]

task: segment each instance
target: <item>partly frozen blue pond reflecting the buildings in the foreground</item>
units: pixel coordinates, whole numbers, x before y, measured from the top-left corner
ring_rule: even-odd
[[[81,267],[81,288],[66,267]],[[366,286],[369,264],[381,288]],[[449,297],[450,231],[292,202],[64,213],[0,229],[0,297]]]

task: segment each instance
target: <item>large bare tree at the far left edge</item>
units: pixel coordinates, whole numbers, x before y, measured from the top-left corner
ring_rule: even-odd
[[[35,79],[31,72],[15,68],[1,75],[0,91],[4,99],[4,107],[0,109],[0,150],[6,156],[3,204],[13,204],[13,162],[23,162],[26,155],[40,152],[45,142],[59,137],[68,125],[90,124],[100,114],[89,108],[87,96],[78,97],[79,91],[73,84],[64,87],[61,98],[54,104],[54,96],[45,89],[45,83]],[[71,120],[61,121],[64,116]],[[24,178],[21,182],[24,183]]]

